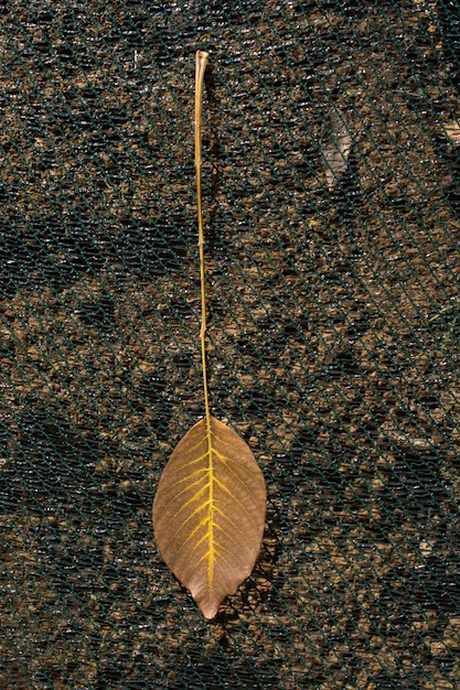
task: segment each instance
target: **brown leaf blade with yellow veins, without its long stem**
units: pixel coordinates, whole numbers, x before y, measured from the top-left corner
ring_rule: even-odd
[[[205,618],[250,574],[264,535],[266,488],[249,446],[213,417],[174,449],[153,502],[161,556]]]

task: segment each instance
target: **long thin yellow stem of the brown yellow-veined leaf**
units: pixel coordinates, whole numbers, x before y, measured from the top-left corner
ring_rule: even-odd
[[[196,211],[199,220],[199,249],[200,249],[200,284],[201,284],[201,359],[203,370],[203,392],[204,392],[204,414],[210,421],[210,398],[207,392],[206,371],[206,277],[204,270],[204,231],[203,231],[203,209],[201,201],[201,108],[203,100],[204,73],[210,54],[205,51],[196,51],[195,67],[195,169],[196,169]]]

